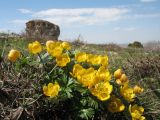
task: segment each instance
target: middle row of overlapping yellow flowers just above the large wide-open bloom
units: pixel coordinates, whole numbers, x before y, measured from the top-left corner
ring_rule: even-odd
[[[88,88],[96,85],[100,81],[108,82],[111,79],[109,71],[103,66],[98,70],[95,70],[93,67],[85,69],[81,65],[75,64],[71,74],[76,77],[81,84]]]

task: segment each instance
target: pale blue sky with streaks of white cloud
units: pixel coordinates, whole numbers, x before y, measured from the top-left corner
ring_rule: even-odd
[[[88,43],[160,40],[160,0],[1,0],[0,31],[21,32],[31,19],[58,24],[59,39]]]

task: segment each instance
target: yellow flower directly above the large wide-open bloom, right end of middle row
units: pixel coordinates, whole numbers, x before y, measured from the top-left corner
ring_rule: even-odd
[[[104,80],[104,81],[111,80],[111,74],[104,66],[99,67],[96,75],[99,80]]]

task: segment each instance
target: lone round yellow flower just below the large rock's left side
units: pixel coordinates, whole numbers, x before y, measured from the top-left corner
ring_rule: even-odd
[[[33,54],[37,54],[42,51],[42,46],[38,41],[35,41],[33,43],[29,43],[28,50]]]

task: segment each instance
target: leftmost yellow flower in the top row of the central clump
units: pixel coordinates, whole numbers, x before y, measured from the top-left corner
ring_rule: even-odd
[[[87,60],[87,54],[84,53],[84,52],[79,52],[79,53],[76,54],[75,60],[77,62],[86,62],[86,60]]]

